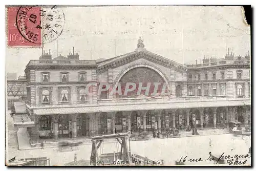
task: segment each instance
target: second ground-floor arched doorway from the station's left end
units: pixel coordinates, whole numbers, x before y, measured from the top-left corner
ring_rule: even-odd
[[[71,131],[71,123],[69,121],[68,115],[60,115],[58,117],[58,127],[59,127],[59,138],[69,137]]]

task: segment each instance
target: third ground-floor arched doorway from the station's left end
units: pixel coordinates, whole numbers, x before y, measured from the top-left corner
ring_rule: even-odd
[[[79,114],[76,119],[77,136],[89,136],[89,117]]]

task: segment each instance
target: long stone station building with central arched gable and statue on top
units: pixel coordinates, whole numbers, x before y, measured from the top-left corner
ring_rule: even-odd
[[[186,125],[200,129],[229,121],[250,126],[250,55],[204,58],[181,65],[144,48],[105,60],[79,60],[78,53],[52,58],[42,52],[26,66],[27,114],[31,141],[40,138],[94,136],[104,132],[152,131]],[[90,87],[92,95],[86,92]],[[98,94],[100,82],[109,90]],[[112,94],[120,83],[165,84],[162,95]],[[161,87],[162,88],[162,87]],[[160,90],[160,89],[159,89]],[[161,89],[162,90],[162,89]],[[123,90],[122,90],[123,91]],[[153,89],[150,89],[152,93]]]

